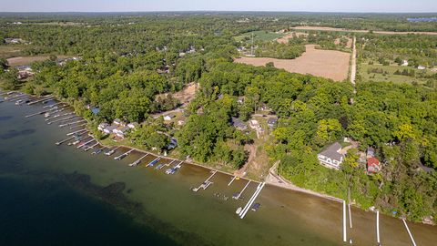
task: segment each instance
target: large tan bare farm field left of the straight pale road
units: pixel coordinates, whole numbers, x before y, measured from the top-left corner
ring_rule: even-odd
[[[265,66],[272,62],[275,67],[290,73],[310,74],[342,81],[348,78],[351,54],[336,50],[316,49],[307,45],[307,51],[296,59],[276,59],[264,57],[240,57],[234,61],[253,66]]]

